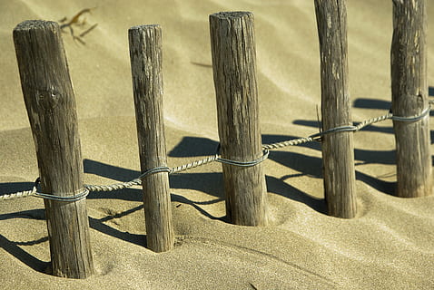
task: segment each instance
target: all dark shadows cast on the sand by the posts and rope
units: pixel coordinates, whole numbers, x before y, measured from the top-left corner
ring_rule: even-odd
[[[429,87],[429,96],[434,96],[434,87]],[[356,108],[366,109],[379,109],[388,111],[390,109],[390,102],[380,100],[369,99],[357,99],[354,102]],[[433,115],[433,112],[430,112]],[[295,124],[318,128],[317,121],[294,121]],[[356,123],[357,124],[357,123]],[[393,128],[391,127],[379,127],[371,125],[364,128],[363,131],[373,131],[380,133],[392,134]],[[431,133],[431,140],[434,138],[433,131]],[[262,143],[269,144],[280,142],[282,140],[291,140],[299,137],[289,135],[263,135]],[[310,142],[299,145],[301,147],[309,148],[311,150],[321,150],[321,144],[318,142]],[[169,156],[176,158],[187,157],[199,157],[215,154],[218,147],[218,142],[206,138],[197,137],[185,137],[182,141],[169,152]],[[359,150],[355,149],[355,160],[359,161],[358,164],[395,164],[395,150]],[[300,173],[296,176],[310,176],[316,179],[322,178],[322,160],[320,158],[304,155],[291,150],[273,150],[270,153],[271,160],[280,163],[291,169],[295,169]],[[356,164],[357,165],[357,164]],[[140,175],[140,172],[132,169],[124,169],[113,165],[105,164],[103,162],[95,160],[84,160],[84,172],[89,174],[95,174],[104,178],[114,179],[118,181],[127,181],[135,179]],[[283,180],[292,178],[294,176],[284,176],[281,179],[277,179],[271,176],[266,176],[267,188],[269,192],[281,195],[285,198],[291,198],[292,200],[302,202],[307,206],[315,209],[316,211],[326,214],[326,205],[324,199],[312,198],[310,195],[292,187]],[[370,175],[364,174],[356,170],[356,179],[365,182],[370,187],[377,189],[385,194],[393,195],[394,182],[383,181]],[[181,173],[172,175],[170,178],[170,186],[172,189],[193,189],[206,192],[214,198],[197,202],[190,200],[189,198],[182,197],[181,195],[172,194],[172,200],[182,204],[190,205],[197,209],[203,216],[212,219],[221,219],[226,221],[225,218],[213,217],[210,213],[204,210],[201,206],[209,205],[224,200],[224,194],[222,189],[222,173]],[[32,182],[10,182],[0,183],[0,192],[15,192],[28,190],[33,187]],[[88,198],[113,198],[123,199],[130,201],[142,201],[141,189],[122,189],[112,192],[97,193],[92,192]],[[121,213],[115,215],[108,215],[104,218],[89,218],[90,227],[98,230],[106,235],[122,239],[133,243],[135,245],[144,246],[146,238],[144,235],[136,235],[128,232],[120,231],[116,228],[110,227],[104,222],[107,222],[113,218],[122,218],[138,210],[142,210],[143,205],[130,208]],[[44,209],[32,209],[15,213],[6,213],[0,215],[0,220],[10,218],[32,218],[44,220]],[[48,266],[48,262],[42,261],[37,257],[29,254],[20,246],[32,246],[39,245],[48,240],[48,237],[42,237],[33,241],[17,242],[11,241],[7,237],[0,235],[0,247],[4,248],[6,252],[15,256],[18,260],[24,263],[26,266],[34,269],[35,271],[44,273],[44,270]]]

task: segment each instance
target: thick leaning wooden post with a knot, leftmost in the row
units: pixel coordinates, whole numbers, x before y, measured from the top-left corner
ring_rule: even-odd
[[[83,160],[74,91],[59,25],[25,21],[14,29],[25,106],[35,140],[43,193],[83,191]],[[94,272],[85,199],[44,200],[53,274],[85,278]]]

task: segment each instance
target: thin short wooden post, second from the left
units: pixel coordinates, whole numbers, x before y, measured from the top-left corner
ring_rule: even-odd
[[[131,27],[131,71],[142,171],[166,167],[163,119],[162,29],[159,25]],[[154,252],[173,247],[169,177],[159,172],[143,179],[147,247]]]

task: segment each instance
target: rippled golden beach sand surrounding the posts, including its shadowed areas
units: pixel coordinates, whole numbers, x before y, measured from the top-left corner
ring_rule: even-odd
[[[2,1],[0,194],[31,189],[38,176],[12,30],[26,19],[57,21],[88,7],[96,8],[86,15],[85,27],[98,25],[84,36],[86,44],[63,34],[85,183],[139,175],[127,39],[128,28],[136,24],[163,26],[170,166],[211,155],[218,142],[208,15],[219,11],[255,15],[264,142],[318,131],[320,59],[313,1]],[[434,15],[434,6],[428,9],[429,17]],[[389,110],[391,12],[391,1],[348,1],[354,121]],[[429,68],[434,67],[433,40],[428,37]],[[434,85],[432,73],[429,84]],[[140,188],[91,193],[87,206],[96,274],[84,280],[44,274],[50,254],[42,199],[0,202],[0,287],[432,289],[434,196],[394,197],[391,126],[385,121],[354,136],[357,218],[326,215],[319,143],[274,150],[265,161],[269,227],[233,226],[224,219],[219,163],[171,176],[176,245],[163,254],[143,247]]]

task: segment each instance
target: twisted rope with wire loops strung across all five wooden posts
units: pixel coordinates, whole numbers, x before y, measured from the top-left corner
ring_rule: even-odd
[[[222,156],[217,153],[214,155],[207,156],[207,157],[203,158],[202,160],[194,160],[190,163],[183,164],[181,166],[177,166],[177,167],[173,167],[173,168],[159,167],[159,168],[155,168],[155,169],[149,169],[149,170],[143,172],[143,174],[141,174],[139,177],[132,179],[130,181],[117,182],[117,183],[113,183],[113,184],[109,184],[109,185],[84,185],[84,189],[80,193],[78,193],[72,197],[59,197],[59,196],[54,196],[51,194],[38,192],[37,187],[38,187],[38,184],[40,183],[40,179],[38,178],[35,180],[35,185],[34,185],[33,189],[4,194],[4,195],[0,196],[0,200],[9,200],[9,199],[27,198],[27,197],[38,197],[38,198],[46,198],[46,199],[52,199],[52,200],[57,200],[57,201],[72,202],[72,201],[78,201],[80,199],[85,198],[89,194],[89,192],[91,192],[91,191],[92,192],[113,191],[113,190],[126,189],[126,188],[131,188],[133,186],[141,185],[142,179],[144,179],[146,176],[148,176],[150,174],[154,174],[154,173],[159,173],[159,172],[168,172],[168,174],[174,174],[174,173],[179,173],[179,172],[182,172],[185,170],[194,169],[194,168],[197,168],[197,167],[200,167],[200,166],[212,163],[212,162],[216,162],[216,161],[221,162],[221,163],[231,164],[234,166],[251,167],[251,166],[254,166],[254,165],[261,163],[263,160],[266,160],[268,158],[269,150],[282,149],[285,147],[301,145],[303,143],[312,142],[312,141],[321,141],[321,138],[324,135],[327,135],[330,133],[336,133],[336,132],[340,132],[340,131],[356,132],[356,131],[360,131],[361,129],[368,127],[374,123],[378,123],[381,121],[387,121],[387,120],[407,121],[407,122],[422,120],[423,118],[425,118],[426,116],[429,115],[429,111],[431,110],[430,106],[432,104],[434,104],[434,101],[429,101],[429,107],[426,108],[424,111],[422,111],[419,115],[413,116],[413,117],[394,116],[390,111],[386,115],[382,115],[382,116],[377,117],[377,118],[372,118],[372,119],[368,119],[365,121],[361,121],[357,126],[353,126],[353,125],[340,126],[340,127],[332,128],[332,129],[327,130],[327,131],[320,131],[319,133],[313,134],[309,137],[303,137],[303,138],[293,139],[293,140],[284,140],[281,142],[271,143],[271,144],[264,144],[264,145],[262,145],[263,155],[258,160],[252,160],[252,161],[247,161],[247,162],[235,161],[235,160],[226,160],[226,159],[223,159]]]

